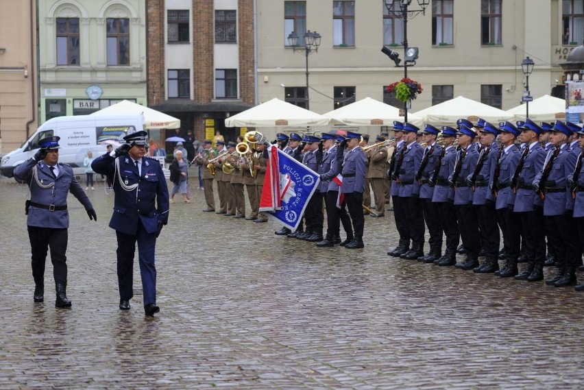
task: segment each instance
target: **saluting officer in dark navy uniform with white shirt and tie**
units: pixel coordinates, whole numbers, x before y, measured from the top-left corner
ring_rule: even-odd
[[[118,241],[117,273],[121,310],[130,309],[132,268],[138,243],[138,261],[142,276],[144,310],[153,316],[156,306],[156,238],[169,219],[169,190],[158,160],[146,158],[145,131],[128,134],[125,144],[111,154],[96,158],[91,167],[104,173],[114,183],[114,213],[110,228],[116,230]]]

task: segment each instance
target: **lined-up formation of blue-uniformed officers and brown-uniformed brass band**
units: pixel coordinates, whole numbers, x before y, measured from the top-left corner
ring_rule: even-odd
[[[483,119],[476,124],[459,119],[456,126],[438,129],[426,124],[423,130],[396,121],[393,130],[394,138],[382,134],[374,145],[352,132],[321,137],[278,134],[278,147],[319,173],[321,183],[306,207],[304,223],[295,232],[282,228],[276,234],[315,242],[317,247],[363,247],[363,215],[383,217],[389,195],[400,236],[389,256],[530,282],[544,279],[544,265],[556,265],[557,272],[546,284],[577,283],[584,251],[582,127],[568,121],[526,119],[493,125]],[[243,137],[239,141],[247,145]],[[204,175],[206,211],[215,210],[215,178],[218,214],[245,217],[247,185],[252,214],[246,219],[263,222],[266,218],[258,208],[265,146],[250,149],[241,143],[198,156],[199,164],[216,168],[215,177],[211,169]],[[210,149],[210,143],[206,147]],[[375,211],[366,205],[369,186]],[[429,252],[424,254],[426,228]],[[465,254],[462,263],[457,263],[457,252]],[[479,257],[484,257],[482,263]],[[500,259],[505,260],[502,268]],[[527,263],[521,272],[520,262]],[[584,290],[584,284],[575,289]]]

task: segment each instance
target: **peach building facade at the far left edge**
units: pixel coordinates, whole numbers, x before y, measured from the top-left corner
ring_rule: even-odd
[[[0,1],[0,154],[37,127],[35,3]]]

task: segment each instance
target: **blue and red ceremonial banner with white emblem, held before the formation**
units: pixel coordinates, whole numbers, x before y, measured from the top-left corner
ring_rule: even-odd
[[[319,175],[275,146],[268,147],[268,156],[260,211],[296,230],[320,182]]]

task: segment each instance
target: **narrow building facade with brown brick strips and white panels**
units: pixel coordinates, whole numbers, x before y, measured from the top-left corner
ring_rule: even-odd
[[[224,120],[254,106],[254,1],[148,0],[149,106],[181,120],[180,135],[239,129]]]

